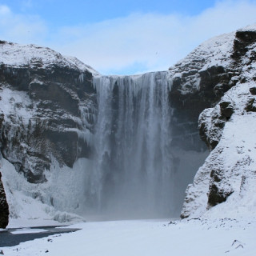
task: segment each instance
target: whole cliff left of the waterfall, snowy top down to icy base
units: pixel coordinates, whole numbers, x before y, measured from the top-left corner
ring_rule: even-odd
[[[78,158],[90,155],[98,73],[41,46],[1,41],[0,56],[0,169],[10,218],[76,218],[65,211],[79,206],[73,186],[82,186]]]

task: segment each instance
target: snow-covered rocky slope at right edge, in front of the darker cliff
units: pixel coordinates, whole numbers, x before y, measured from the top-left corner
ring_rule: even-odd
[[[230,64],[239,74],[214,108],[199,117],[211,153],[186,190],[182,218],[254,215],[255,209],[255,26],[238,30]]]

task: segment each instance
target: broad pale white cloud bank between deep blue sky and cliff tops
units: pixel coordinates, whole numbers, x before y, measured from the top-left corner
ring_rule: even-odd
[[[1,12],[13,19],[6,27]],[[13,14],[0,6],[0,37],[53,47],[102,74],[131,74],[166,70],[206,39],[255,23],[255,13],[256,1],[228,0],[196,16],[135,13],[53,30],[42,18]]]

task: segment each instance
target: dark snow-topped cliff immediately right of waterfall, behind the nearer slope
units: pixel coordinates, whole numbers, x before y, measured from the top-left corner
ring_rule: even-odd
[[[201,142],[196,139],[199,114],[219,102],[223,94],[238,82],[241,72],[240,67],[234,65],[231,58],[233,40],[234,33],[210,39],[169,69],[172,80],[170,105],[174,108],[174,115],[177,118],[177,125],[173,129],[174,137],[177,135],[177,144],[183,141],[185,148],[194,147],[202,150]],[[218,130],[218,126],[223,126],[226,118],[223,116],[222,122],[217,113],[214,115],[213,122],[216,119],[220,120],[216,122]],[[204,118],[206,117],[207,114]],[[180,123],[186,124],[182,130]],[[184,136],[186,131],[191,129],[194,134],[194,146],[188,145],[189,139]],[[204,123],[199,130],[202,140],[210,149],[218,144],[219,135],[216,135],[217,138],[207,137],[207,127]]]

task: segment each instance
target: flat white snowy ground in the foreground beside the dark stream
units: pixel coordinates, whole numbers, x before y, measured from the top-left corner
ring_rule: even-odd
[[[256,254],[256,219],[193,219],[84,222],[70,234],[57,234],[3,247],[4,255],[173,255]]]

